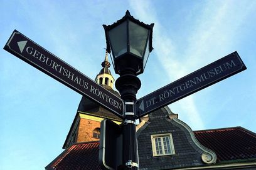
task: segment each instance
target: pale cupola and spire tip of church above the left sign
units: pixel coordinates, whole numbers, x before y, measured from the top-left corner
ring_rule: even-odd
[[[104,86],[105,88],[113,89],[114,84],[114,78],[112,74],[110,73],[110,63],[108,58],[108,53],[106,51],[105,53],[105,59],[102,62],[102,69],[100,70],[100,73],[96,76],[95,81]]]

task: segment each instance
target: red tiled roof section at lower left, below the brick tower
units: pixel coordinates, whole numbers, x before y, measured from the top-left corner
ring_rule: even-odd
[[[73,144],[53,160],[45,169],[95,169],[99,166],[99,141]]]

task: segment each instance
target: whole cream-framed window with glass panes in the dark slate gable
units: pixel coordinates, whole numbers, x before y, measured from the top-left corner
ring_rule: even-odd
[[[171,133],[152,134],[151,142],[153,156],[165,156],[175,154]]]

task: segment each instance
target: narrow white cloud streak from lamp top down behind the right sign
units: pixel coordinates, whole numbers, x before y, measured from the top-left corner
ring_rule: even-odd
[[[137,16],[140,16],[140,19],[144,22],[147,19],[152,19],[155,23],[154,26],[154,47],[155,53],[161,64],[163,65],[166,72],[168,72],[169,81],[173,79],[180,78],[184,74],[185,68],[183,63],[178,61],[178,54],[172,39],[168,38],[165,32],[165,29],[157,21],[157,16],[154,12],[154,8],[148,1],[130,1],[132,8],[136,12]],[[152,22],[147,21],[147,22]],[[146,23],[147,23],[146,22]],[[189,121],[189,126],[196,129],[203,129],[205,125],[200,118],[200,114],[197,111],[196,105],[192,97],[183,99],[183,105],[179,108],[179,113],[186,114],[186,117]]]

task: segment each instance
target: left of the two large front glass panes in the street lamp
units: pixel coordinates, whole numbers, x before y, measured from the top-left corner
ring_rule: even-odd
[[[127,52],[127,22],[122,22],[109,31],[110,43],[115,58]]]

